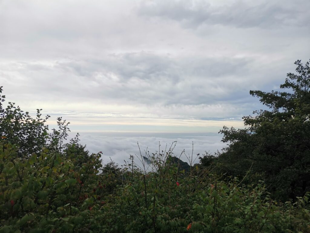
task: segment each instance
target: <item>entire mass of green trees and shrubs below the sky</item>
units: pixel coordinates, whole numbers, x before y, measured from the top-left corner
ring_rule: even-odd
[[[310,232],[310,69],[296,65],[290,91],[251,92],[271,111],[224,127],[225,152],[188,171],[172,148],[102,166],[61,118],[48,133],[41,110],[1,104],[0,232]]]

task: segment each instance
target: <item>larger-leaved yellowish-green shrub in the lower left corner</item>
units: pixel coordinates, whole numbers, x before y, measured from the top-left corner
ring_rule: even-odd
[[[7,226],[2,232],[73,231],[76,226],[69,224],[66,216],[74,216],[97,201],[99,154],[78,166],[76,153],[66,158],[42,148],[38,154],[20,158],[16,145],[3,142],[0,150],[0,225]]]

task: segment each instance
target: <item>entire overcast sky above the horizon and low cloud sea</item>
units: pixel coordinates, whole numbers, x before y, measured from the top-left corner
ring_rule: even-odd
[[[0,0],[0,85],[76,131],[218,132],[310,58],[308,0]]]

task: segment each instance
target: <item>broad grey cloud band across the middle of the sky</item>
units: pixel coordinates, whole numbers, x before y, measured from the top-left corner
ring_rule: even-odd
[[[45,95],[49,95],[45,91],[48,87],[50,95],[54,96],[55,90],[59,97],[199,105],[229,102],[229,96],[241,89],[247,94],[256,78],[248,77],[253,62],[244,58],[170,58],[141,52],[114,54],[102,60],[10,63],[1,69],[8,83],[22,80]]]

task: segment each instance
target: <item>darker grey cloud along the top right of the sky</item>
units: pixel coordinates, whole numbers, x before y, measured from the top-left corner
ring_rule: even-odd
[[[228,2],[227,2],[228,3]],[[213,5],[203,0],[143,1],[138,12],[143,16],[158,16],[179,21],[184,26],[203,24],[240,28],[307,27],[310,3],[299,1],[233,1]]]

